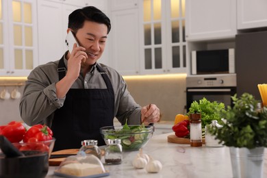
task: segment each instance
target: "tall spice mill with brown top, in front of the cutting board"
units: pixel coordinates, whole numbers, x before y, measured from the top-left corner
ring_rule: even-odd
[[[190,146],[202,147],[201,114],[190,114]]]

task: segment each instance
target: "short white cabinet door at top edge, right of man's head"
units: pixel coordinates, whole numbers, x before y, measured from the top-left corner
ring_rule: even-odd
[[[111,10],[126,10],[138,8],[138,0],[112,0]]]

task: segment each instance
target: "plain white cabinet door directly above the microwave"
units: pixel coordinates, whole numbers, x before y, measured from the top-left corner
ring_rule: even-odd
[[[236,0],[186,1],[186,40],[234,38]]]

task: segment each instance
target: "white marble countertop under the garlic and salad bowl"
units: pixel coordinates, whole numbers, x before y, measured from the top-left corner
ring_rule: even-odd
[[[190,147],[189,144],[170,143],[167,136],[171,134],[173,133],[153,136],[143,148],[144,153],[162,162],[163,168],[160,173],[147,173],[144,169],[133,168],[131,162],[138,151],[132,151],[123,153],[122,164],[104,164],[105,169],[110,171],[108,177],[233,177],[228,147]],[[264,159],[264,178],[267,177],[266,152],[267,150]],[[47,177],[57,177],[53,175],[56,168],[51,166]]]

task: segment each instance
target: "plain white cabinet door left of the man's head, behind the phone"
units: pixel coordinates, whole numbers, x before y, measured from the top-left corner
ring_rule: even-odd
[[[77,6],[38,1],[39,64],[60,60],[67,50],[65,46],[68,15]]]

